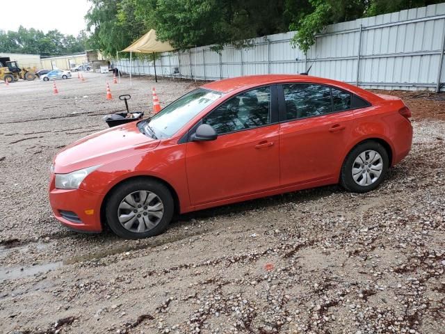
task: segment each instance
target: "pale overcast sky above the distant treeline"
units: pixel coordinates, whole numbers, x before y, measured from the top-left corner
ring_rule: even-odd
[[[1,2],[1,1],[0,1]],[[13,10],[13,15],[3,13],[0,30],[17,31],[20,25],[47,33],[57,29],[61,33],[76,36],[86,29],[83,18],[91,3],[88,0],[8,0],[3,10]]]

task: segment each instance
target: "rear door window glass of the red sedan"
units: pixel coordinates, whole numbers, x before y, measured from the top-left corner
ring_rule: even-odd
[[[286,120],[320,116],[332,111],[330,88],[312,84],[283,85]]]

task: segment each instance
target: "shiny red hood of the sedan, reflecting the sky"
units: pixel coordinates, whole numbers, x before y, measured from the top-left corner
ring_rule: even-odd
[[[60,151],[54,159],[54,173],[70,173],[90,166],[107,164],[159,145],[140,133],[138,122],[112,127],[75,141]]]

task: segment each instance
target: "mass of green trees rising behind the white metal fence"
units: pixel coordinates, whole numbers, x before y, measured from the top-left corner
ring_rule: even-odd
[[[307,53],[325,26],[369,15],[427,6],[441,0],[90,0],[89,45],[115,55],[155,29],[162,41],[186,49],[296,30],[291,41]]]

